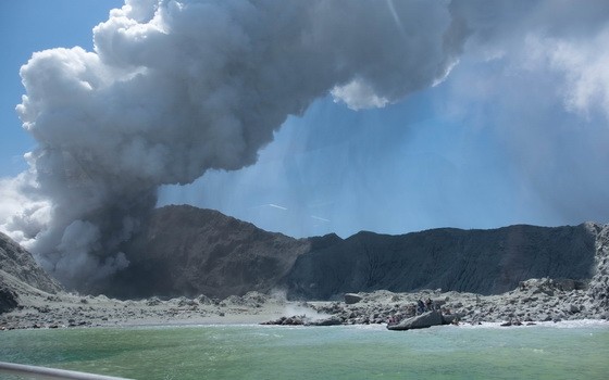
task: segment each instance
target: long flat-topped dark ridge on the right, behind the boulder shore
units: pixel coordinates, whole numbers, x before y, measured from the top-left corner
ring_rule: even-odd
[[[593,276],[600,230],[598,225],[582,224],[444,228],[402,236],[360,232],[300,255],[286,277],[286,287],[289,299],[338,300],[348,292],[380,289],[499,294],[530,278],[587,281]],[[604,279],[598,280],[598,296],[606,289]]]

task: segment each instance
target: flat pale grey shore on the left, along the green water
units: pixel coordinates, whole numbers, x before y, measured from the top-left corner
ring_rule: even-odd
[[[74,293],[20,297],[20,306],[0,314],[0,330],[184,324],[251,324],[285,311],[285,302],[257,292],[212,300],[150,297],[122,301]]]

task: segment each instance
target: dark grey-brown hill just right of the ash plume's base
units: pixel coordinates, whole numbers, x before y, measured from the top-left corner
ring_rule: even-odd
[[[103,293],[224,299],[268,292],[311,246],[308,240],[187,205],[154,210],[144,230],[125,250],[129,266],[101,289]]]

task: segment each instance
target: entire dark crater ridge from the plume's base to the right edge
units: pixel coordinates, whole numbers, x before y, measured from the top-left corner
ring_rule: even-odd
[[[602,226],[433,229],[293,239],[211,210],[156,210],[128,268],[101,292],[120,297],[287,290],[290,299],[438,289],[497,294],[530,278],[589,280]]]

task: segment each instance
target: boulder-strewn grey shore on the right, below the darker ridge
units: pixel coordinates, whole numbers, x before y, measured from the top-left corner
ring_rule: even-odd
[[[461,324],[481,322],[540,322],[576,319],[609,319],[609,309],[602,307],[586,290],[576,289],[576,281],[532,279],[519,289],[499,295],[422,290],[413,293],[376,291],[359,293],[356,303],[308,302],[319,313],[331,315],[321,324],[371,325],[402,320],[417,315],[419,300],[431,299],[445,316]],[[319,325],[309,316],[282,317],[274,325]]]

